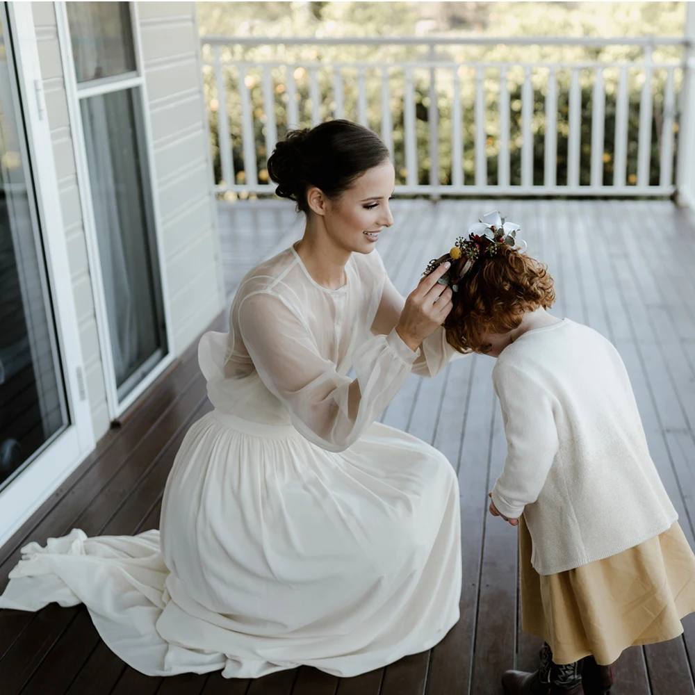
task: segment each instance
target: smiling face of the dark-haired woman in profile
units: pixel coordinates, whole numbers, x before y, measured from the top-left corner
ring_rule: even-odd
[[[379,233],[391,227],[389,199],[395,172],[390,161],[367,170],[336,200],[324,199],[323,220],[331,240],[345,251],[368,254]]]

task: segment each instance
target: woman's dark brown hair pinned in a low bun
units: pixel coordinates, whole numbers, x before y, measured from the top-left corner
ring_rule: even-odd
[[[306,193],[320,188],[336,199],[364,172],[389,159],[389,150],[367,128],[337,120],[309,130],[294,130],[278,142],[268,159],[268,175],[277,183],[275,193],[297,202],[309,213]]]

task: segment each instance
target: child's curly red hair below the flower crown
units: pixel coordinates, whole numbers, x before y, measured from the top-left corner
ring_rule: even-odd
[[[502,245],[494,256],[473,263],[453,294],[444,322],[446,339],[458,352],[488,352],[484,334],[518,328],[524,313],[555,302],[546,265]]]

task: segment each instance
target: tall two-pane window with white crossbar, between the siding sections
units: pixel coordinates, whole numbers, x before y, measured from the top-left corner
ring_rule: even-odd
[[[102,352],[118,414],[168,352],[143,83],[131,4],[65,4],[88,170],[82,188],[89,197],[106,313]]]

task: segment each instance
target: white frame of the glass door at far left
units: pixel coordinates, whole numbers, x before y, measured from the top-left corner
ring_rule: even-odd
[[[13,50],[8,51],[8,57],[14,61],[17,72],[17,88],[24,116],[19,119],[19,126],[24,127],[28,161],[31,163],[31,183],[46,256],[70,425],[49,439],[31,464],[0,491],[0,546],[13,536],[95,447],[31,6],[32,3],[5,3],[13,39]],[[20,138],[22,134],[19,133]]]

